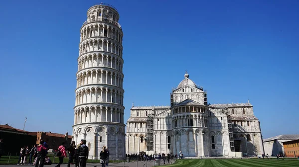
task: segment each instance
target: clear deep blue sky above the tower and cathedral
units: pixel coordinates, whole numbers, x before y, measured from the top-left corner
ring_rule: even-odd
[[[98,0],[0,5],[0,122],[71,132],[80,27]],[[190,79],[208,102],[254,105],[264,138],[299,134],[299,1],[107,0],[124,31],[125,122]]]

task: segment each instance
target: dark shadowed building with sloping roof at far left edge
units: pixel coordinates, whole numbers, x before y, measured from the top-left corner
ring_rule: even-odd
[[[4,155],[19,154],[21,147],[32,147],[35,144],[36,137],[31,136],[28,131],[13,128],[8,124],[0,125],[0,139],[4,142]]]

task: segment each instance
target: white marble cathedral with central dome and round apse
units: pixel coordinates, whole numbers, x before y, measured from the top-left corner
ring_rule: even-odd
[[[252,157],[264,153],[260,122],[249,103],[208,104],[207,92],[184,75],[169,106],[134,106],[126,154]]]

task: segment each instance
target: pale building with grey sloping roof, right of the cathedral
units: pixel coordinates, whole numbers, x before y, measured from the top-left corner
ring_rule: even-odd
[[[279,135],[264,139],[263,144],[265,148],[265,154],[269,154],[269,156],[276,156],[279,154],[282,156],[285,154],[283,143],[297,139],[299,139],[299,135]]]

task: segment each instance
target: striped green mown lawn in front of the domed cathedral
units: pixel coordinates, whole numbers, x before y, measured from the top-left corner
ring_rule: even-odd
[[[299,167],[299,160],[184,159],[164,167]]]

